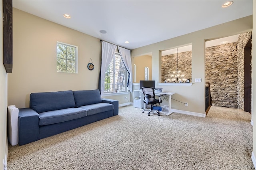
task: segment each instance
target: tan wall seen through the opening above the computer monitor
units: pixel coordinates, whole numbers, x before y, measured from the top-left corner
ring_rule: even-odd
[[[139,57],[132,57],[132,70],[136,64],[136,81],[133,83],[140,83],[140,80],[145,80],[145,67],[149,69],[149,80],[152,80],[152,57],[149,55],[142,55]],[[134,76],[134,71],[133,71]]]

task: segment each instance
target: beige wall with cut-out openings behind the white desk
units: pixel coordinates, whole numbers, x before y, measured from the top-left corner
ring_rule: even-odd
[[[205,40],[212,40],[226,36],[241,34],[252,30],[252,16],[240,18],[192,32],[184,36],[172,38],[132,50],[132,57],[145,53],[152,53],[152,79],[161,81],[161,53],[160,51],[172,49],[192,43],[192,86],[162,86],[163,91],[173,91],[172,97],[182,102],[188,102],[188,107],[182,103],[172,101],[174,109],[205,113]],[[201,78],[201,83],[195,83],[195,78]],[[158,83],[157,82],[157,83]],[[157,85],[157,84],[156,84]],[[158,87],[160,87],[158,85]]]

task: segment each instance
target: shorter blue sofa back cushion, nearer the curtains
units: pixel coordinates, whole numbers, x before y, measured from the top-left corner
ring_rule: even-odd
[[[100,91],[97,90],[80,90],[73,91],[76,101],[76,107],[102,103]]]

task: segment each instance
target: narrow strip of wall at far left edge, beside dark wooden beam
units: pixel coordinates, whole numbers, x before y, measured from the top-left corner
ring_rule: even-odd
[[[0,170],[8,154],[7,141],[7,73],[3,64],[3,20],[2,0],[0,1]]]

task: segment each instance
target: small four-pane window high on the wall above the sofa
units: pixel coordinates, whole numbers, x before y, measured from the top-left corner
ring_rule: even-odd
[[[77,73],[77,46],[57,42],[57,72]]]

